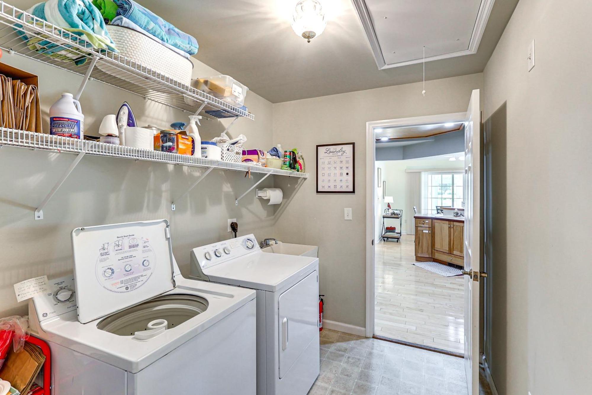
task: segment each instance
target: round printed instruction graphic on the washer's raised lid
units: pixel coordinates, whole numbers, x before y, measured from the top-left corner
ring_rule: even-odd
[[[149,241],[141,240],[140,244],[137,236],[122,235],[117,240],[101,243],[95,276],[103,288],[118,293],[133,292],[150,279],[156,257]]]

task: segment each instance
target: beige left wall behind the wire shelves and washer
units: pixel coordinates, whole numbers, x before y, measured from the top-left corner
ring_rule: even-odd
[[[39,76],[44,130],[48,129],[49,107],[62,92],[75,93],[82,79],[66,71],[18,55],[4,53],[2,62]],[[195,61],[194,76],[220,74]],[[130,103],[139,125],[153,123],[166,127],[187,121],[188,114],[153,101],[89,81],[82,94],[85,131],[98,135],[105,114],[116,113],[121,103]],[[248,136],[248,145],[272,146],[272,105],[249,92],[246,106],[255,121],[238,120],[229,134]],[[230,120],[203,120],[200,133],[210,139],[219,135]],[[203,173],[160,163],[135,162],[119,158],[86,155],[44,209],[42,221],[34,221],[33,211],[74,160],[72,154],[53,154],[3,146],[0,150],[0,317],[27,314],[26,302],[17,304],[12,285],[24,279],[47,275],[53,278],[72,271],[70,231],[75,227],[127,221],[168,218],[172,226],[173,251],[182,272],[189,273],[189,250],[231,236],[227,219],[237,218],[239,234],[255,233],[258,238],[272,232],[275,208],[251,193],[234,205],[253,184],[243,174],[214,170],[189,196],[176,202]],[[254,175],[259,179],[260,175]],[[261,185],[272,186],[271,179]]]

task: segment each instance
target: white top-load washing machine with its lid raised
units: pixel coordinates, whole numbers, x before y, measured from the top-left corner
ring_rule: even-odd
[[[78,228],[72,246],[74,276],[29,304],[53,394],[256,393],[255,292],[183,278],[168,221]]]

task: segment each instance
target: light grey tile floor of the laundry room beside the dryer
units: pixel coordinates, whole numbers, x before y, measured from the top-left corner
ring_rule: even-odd
[[[309,395],[467,395],[456,356],[325,329]]]

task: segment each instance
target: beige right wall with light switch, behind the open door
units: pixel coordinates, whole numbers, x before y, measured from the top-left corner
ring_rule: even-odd
[[[521,0],[484,71],[493,203],[486,353],[500,395],[592,388],[591,14],[589,1]]]

